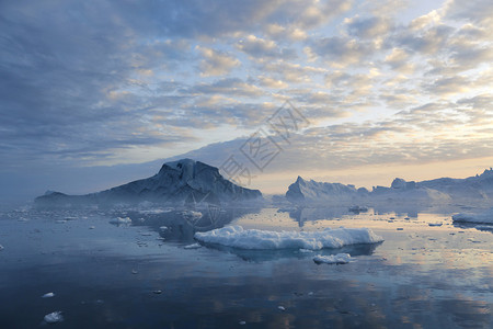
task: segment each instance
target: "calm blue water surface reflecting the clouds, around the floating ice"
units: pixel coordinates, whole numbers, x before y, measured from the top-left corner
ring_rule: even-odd
[[[450,209],[200,212],[2,213],[0,328],[493,328],[493,227],[457,226]],[[117,216],[133,222],[110,224]],[[185,248],[195,230],[223,225],[369,227],[385,241],[308,253]],[[355,261],[312,261],[337,252]],[[64,321],[44,322],[55,310]]]

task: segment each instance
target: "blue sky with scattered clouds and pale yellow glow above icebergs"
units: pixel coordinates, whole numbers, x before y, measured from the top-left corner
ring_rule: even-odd
[[[492,31],[489,0],[1,1],[0,202],[183,157],[267,193],[480,173]]]

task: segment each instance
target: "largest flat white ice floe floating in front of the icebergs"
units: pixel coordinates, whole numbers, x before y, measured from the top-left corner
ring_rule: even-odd
[[[195,239],[205,243],[251,250],[342,248],[348,245],[383,241],[368,228],[326,228],[323,231],[270,231],[227,226],[206,232],[196,232]]]

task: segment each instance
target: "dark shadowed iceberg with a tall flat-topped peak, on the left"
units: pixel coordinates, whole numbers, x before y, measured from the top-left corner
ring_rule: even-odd
[[[85,195],[48,192],[36,197],[37,205],[78,205],[114,203],[190,203],[196,204],[262,198],[250,190],[226,180],[216,167],[192,159],[167,162],[153,177]]]

